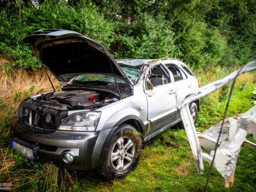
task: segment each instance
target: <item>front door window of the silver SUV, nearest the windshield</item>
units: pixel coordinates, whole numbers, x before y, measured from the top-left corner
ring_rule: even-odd
[[[159,85],[164,85],[166,83],[169,83],[169,78],[166,76],[166,74],[159,66],[152,67],[149,69],[149,74],[146,83],[147,89],[151,89]],[[150,84],[153,85],[153,87],[150,87]]]

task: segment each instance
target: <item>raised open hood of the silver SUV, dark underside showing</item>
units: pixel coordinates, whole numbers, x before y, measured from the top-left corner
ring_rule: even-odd
[[[121,77],[132,84],[105,46],[75,31],[39,30],[22,42],[31,44],[33,54],[61,82],[79,74],[97,73]]]

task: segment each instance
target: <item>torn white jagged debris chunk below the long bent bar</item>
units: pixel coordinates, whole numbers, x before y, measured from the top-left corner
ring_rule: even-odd
[[[201,146],[210,151],[210,154],[203,153],[203,159],[211,163],[214,149],[218,140],[221,123],[210,127],[198,138]],[[238,155],[248,133],[256,133],[256,106],[246,113],[237,117],[230,117],[223,124],[219,147],[216,151],[214,166],[226,182],[230,180],[231,174],[235,171]],[[256,134],[254,134],[256,136]]]

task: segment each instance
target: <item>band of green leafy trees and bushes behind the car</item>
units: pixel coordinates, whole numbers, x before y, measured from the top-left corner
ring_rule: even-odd
[[[0,1],[0,53],[10,65],[42,64],[20,40],[35,30],[75,30],[115,58],[175,57],[194,68],[255,58],[253,0]]]

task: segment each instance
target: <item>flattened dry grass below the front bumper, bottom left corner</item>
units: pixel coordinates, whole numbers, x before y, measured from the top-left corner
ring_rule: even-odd
[[[0,175],[4,176],[5,182],[11,182],[13,189],[20,189],[33,182],[43,191],[60,191],[76,189],[76,177],[68,170],[46,163],[44,171],[34,166],[23,167],[17,165],[14,158],[7,153],[7,149],[0,149]],[[15,166],[16,165],[16,166]],[[21,177],[22,175],[22,177]]]

